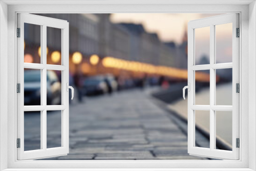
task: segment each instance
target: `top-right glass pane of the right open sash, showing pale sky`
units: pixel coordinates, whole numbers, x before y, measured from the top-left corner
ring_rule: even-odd
[[[232,62],[232,23],[216,25],[216,63]]]

